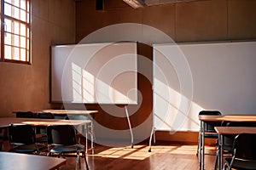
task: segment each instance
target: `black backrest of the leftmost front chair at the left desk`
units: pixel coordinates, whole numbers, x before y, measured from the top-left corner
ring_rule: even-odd
[[[34,144],[36,141],[35,131],[31,125],[10,124],[9,143],[10,144]]]

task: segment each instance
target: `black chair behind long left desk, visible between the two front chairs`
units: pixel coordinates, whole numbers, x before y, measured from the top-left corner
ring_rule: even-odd
[[[38,113],[39,119],[54,119],[55,116],[50,112],[39,112]],[[37,127],[37,133],[39,136],[37,136],[37,142],[46,144],[47,143],[47,135],[46,135],[46,127]]]

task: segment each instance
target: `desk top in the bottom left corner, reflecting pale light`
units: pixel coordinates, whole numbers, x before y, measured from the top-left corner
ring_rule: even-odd
[[[0,151],[0,169],[54,170],[66,164],[66,159]]]

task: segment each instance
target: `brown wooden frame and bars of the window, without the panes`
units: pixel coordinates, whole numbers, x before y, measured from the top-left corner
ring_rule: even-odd
[[[20,2],[20,0],[19,0]],[[5,3],[5,0],[0,0],[0,3],[1,3],[1,7],[0,7],[0,12],[1,12],[1,15],[0,15],[0,21],[1,21],[1,38],[0,38],[0,43],[1,43],[1,52],[0,52],[0,62],[9,62],[9,63],[18,63],[18,64],[26,64],[26,65],[31,65],[31,62],[32,62],[32,30],[31,30],[31,27],[32,27],[32,1],[31,0],[26,0],[26,4],[28,3],[28,8],[26,10],[26,14],[28,12],[28,18],[27,18],[27,22],[26,21],[23,21],[23,20],[19,20],[19,19],[15,19],[15,17],[13,16],[9,16],[9,15],[6,15],[4,14],[4,3]],[[15,7],[15,5],[12,3],[12,6]],[[21,9],[19,8],[19,11]],[[23,24],[23,25],[26,25],[26,29],[28,29],[28,31],[26,31],[26,44],[27,44],[27,48],[26,49],[26,60],[21,60],[20,58],[19,59],[6,59],[4,54],[5,54],[5,43],[4,43],[4,39],[5,39],[5,33],[6,33],[6,30],[5,30],[5,19],[7,20],[11,20],[12,22],[16,21],[18,22],[19,24]],[[12,35],[15,35],[14,31],[11,31],[11,34]],[[22,37],[21,34],[19,33],[18,34],[19,38]],[[28,42],[27,42],[28,41]],[[14,47],[15,45],[14,44],[11,44],[11,47]],[[19,48],[19,51],[20,51],[20,44],[18,46]],[[13,49],[12,49],[13,50]],[[20,56],[20,54],[19,54]]]

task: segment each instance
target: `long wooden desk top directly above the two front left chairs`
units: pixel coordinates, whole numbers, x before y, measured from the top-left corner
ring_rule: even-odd
[[[16,117],[0,117],[0,127],[8,127],[12,123],[30,124],[32,126],[48,126],[48,125],[73,125],[80,126],[90,123],[90,120],[63,120],[63,119],[37,119],[37,118],[16,118]]]

